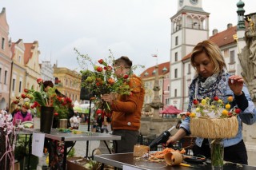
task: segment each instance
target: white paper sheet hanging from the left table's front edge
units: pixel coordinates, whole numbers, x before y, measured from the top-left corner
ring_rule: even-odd
[[[42,157],[44,143],[45,143],[45,134],[33,132],[32,154],[34,156]]]

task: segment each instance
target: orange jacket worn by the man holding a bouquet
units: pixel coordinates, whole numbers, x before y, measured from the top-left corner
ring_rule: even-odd
[[[140,128],[145,95],[144,85],[139,77],[132,75],[129,86],[132,89],[132,95],[118,96],[118,100],[111,105],[113,110],[111,124],[114,130],[138,130]]]

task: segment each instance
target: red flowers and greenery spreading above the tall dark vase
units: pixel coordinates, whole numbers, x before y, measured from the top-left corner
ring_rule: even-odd
[[[22,107],[31,109],[36,117],[41,116],[41,106],[54,107],[54,117],[67,118],[69,109],[73,108],[72,101],[69,97],[59,95],[55,87],[48,87],[47,91],[44,90],[42,78],[38,78],[38,85],[40,90],[36,91],[33,88],[24,89],[24,93],[16,97],[14,104],[23,102]]]

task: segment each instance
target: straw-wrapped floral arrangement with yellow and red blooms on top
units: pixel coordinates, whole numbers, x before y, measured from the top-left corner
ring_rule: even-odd
[[[206,97],[201,101],[194,99],[190,117],[190,131],[194,136],[202,138],[231,138],[237,135],[237,116],[241,112],[238,108],[232,108],[230,103],[233,97],[227,98],[227,103],[214,97]],[[202,130],[203,129],[203,130]]]

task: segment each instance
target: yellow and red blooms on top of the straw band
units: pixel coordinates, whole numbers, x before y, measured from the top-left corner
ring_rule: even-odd
[[[190,117],[210,117],[210,118],[227,118],[232,116],[237,116],[241,110],[238,108],[231,109],[231,102],[233,97],[227,97],[227,103],[224,104],[222,99],[214,97],[213,100],[210,97],[206,97],[201,100],[194,99],[193,105],[194,110],[188,113],[187,116]]]

